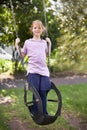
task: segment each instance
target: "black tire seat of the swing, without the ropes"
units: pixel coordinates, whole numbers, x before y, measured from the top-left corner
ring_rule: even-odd
[[[35,100],[33,100],[33,98],[31,98],[31,101],[30,101],[30,98],[28,99],[29,91],[31,91],[32,95],[35,96]],[[55,93],[54,99],[52,99],[51,93]],[[36,115],[32,113],[33,105],[35,102],[37,103],[37,107],[38,107],[38,113]],[[55,122],[58,116],[60,116],[61,114],[62,97],[61,97],[60,91],[58,90],[58,88],[55,86],[53,82],[51,82],[51,90],[47,92],[47,109],[48,109],[49,103],[51,103],[51,105],[56,107],[55,112],[50,113],[50,115],[49,115],[49,112],[48,112],[48,115],[43,115],[43,107],[42,107],[42,101],[41,101],[40,95],[38,91],[36,90],[36,88],[28,83],[24,87],[24,103],[27,106],[32,119],[38,125],[51,124]],[[54,105],[53,103],[56,105]]]

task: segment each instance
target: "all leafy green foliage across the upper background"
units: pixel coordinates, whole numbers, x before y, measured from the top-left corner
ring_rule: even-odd
[[[16,29],[21,38],[32,37],[29,33],[31,22],[40,19],[45,23],[43,2],[38,0],[13,1]],[[87,60],[87,1],[45,0],[48,35],[52,41],[51,70],[75,70],[86,67]],[[4,16],[4,17],[3,17]],[[0,41],[14,44],[16,37],[14,19],[9,0],[0,5]]]

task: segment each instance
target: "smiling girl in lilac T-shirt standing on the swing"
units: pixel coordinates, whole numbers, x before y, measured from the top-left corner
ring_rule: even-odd
[[[51,41],[49,38],[46,38],[46,40],[41,39],[45,27],[40,20],[32,22],[30,31],[33,37],[25,41],[22,51],[18,46],[20,42],[19,38],[16,39],[15,46],[21,57],[24,57],[25,55],[29,57],[27,69],[28,82],[31,83],[39,92],[42,99],[43,114],[47,114],[46,92],[50,90],[51,82],[49,79],[49,70],[46,64],[46,56],[51,52]],[[36,104],[34,104],[33,113],[38,114]]]

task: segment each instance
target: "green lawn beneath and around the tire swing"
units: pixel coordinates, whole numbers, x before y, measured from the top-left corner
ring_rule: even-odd
[[[87,119],[87,85],[67,85],[59,86],[62,94],[62,111],[75,114],[75,117]],[[61,114],[54,124],[48,126],[36,125],[30,117],[27,107],[24,105],[23,88],[12,88],[0,90],[0,96],[11,97],[11,104],[0,105],[0,130],[10,130],[8,122],[16,117],[29,123],[29,127],[40,130],[76,130],[68,124],[67,120]],[[54,97],[52,93],[52,98]],[[55,106],[50,104],[49,110],[53,113]]]

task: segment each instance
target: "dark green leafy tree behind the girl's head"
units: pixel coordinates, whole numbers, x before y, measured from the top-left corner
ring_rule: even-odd
[[[29,33],[29,27],[31,25],[31,22],[35,19],[40,19],[45,23],[45,16],[44,16],[44,7],[43,2],[41,0],[16,0],[12,1],[13,9],[14,9],[14,15],[16,19],[16,29],[18,31],[18,35],[21,38],[22,45],[25,39],[31,37],[31,34]],[[52,3],[50,0],[45,1],[46,4],[46,18],[47,18],[47,25],[48,25],[48,34],[51,40],[53,41],[53,48],[56,47],[56,37],[58,36],[58,29],[57,25],[54,22],[54,15],[53,15],[53,9],[50,8]],[[7,33],[3,32],[3,36],[1,36],[1,41],[8,44],[14,44],[14,39],[16,37],[15,30],[14,30],[14,19],[11,9],[11,4],[9,0],[3,1],[3,4],[0,5],[2,10],[5,10],[1,13],[2,17],[2,23],[1,28],[2,30],[6,31],[6,28],[8,28]],[[3,14],[3,16],[2,16]],[[9,15],[8,15],[9,14]],[[8,20],[6,20],[8,19]],[[4,24],[4,25],[3,25]],[[3,25],[3,26],[2,26]],[[7,37],[7,40],[2,37]],[[3,39],[3,40],[2,40]]]

